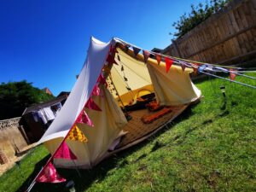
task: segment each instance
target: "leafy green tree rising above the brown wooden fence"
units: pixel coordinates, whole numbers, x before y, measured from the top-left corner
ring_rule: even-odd
[[[177,38],[182,37],[195,26],[198,26],[202,21],[207,20],[212,14],[223,9],[228,2],[230,2],[230,0],[211,0],[210,3],[206,1],[205,4],[199,3],[197,6],[191,4],[191,12],[189,15],[186,13],[183,14],[177,22],[172,24],[177,30],[173,35]]]

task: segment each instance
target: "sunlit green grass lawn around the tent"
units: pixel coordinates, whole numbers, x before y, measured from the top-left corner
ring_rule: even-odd
[[[81,170],[82,177],[75,170],[58,172],[77,191],[256,191],[256,90],[220,79],[196,85],[205,97],[168,129]],[[0,177],[0,191],[24,191],[47,158],[44,146],[35,148],[20,168]],[[65,183],[37,183],[32,191],[67,189]]]

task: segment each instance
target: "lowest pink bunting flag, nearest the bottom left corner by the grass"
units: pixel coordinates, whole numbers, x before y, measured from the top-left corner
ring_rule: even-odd
[[[44,167],[44,170],[39,174],[36,179],[39,183],[62,183],[66,182],[66,179],[61,177],[55,170],[55,167],[51,162]]]

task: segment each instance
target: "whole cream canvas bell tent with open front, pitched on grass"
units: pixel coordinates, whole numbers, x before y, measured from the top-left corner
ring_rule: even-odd
[[[56,154],[65,140],[75,158],[55,158],[55,166],[95,166],[142,142],[199,101],[192,72],[171,57],[118,38],[108,43],[91,38],[73,90],[38,143]]]

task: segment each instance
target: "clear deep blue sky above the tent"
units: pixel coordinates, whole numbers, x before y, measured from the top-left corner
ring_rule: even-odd
[[[55,96],[71,90],[90,36],[163,49],[172,23],[199,2],[0,0],[0,83],[26,79]]]

